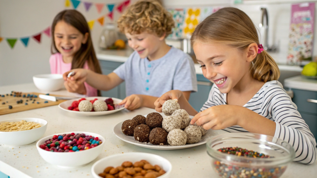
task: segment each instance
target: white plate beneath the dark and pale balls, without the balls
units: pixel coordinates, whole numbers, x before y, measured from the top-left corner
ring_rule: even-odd
[[[146,115],[144,117],[146,117]],[[193,117],[194,116],[190,116],[191,119]],[[181,145],[181,146],[172,146],[172,145],[170,145],[168,143],[167,143],[167,145],[153,145],[152,143],[142,143],[142,142],[136,141],[133,136],[127,136],[127,135],[123,134],[123,132],[121,131],[121,126],[122,126],[123,122],[124,121],[122,121],[122,122],[118,123],[116,126],[114,126],[113,133],[118,138],[120,138],[121,140],[123,140],[123,141],[125,141],[127,143],[131,143],[131,144],[137,145],[139,147],[149,148],[149,149],[172,150],[172,149],[191,148],[191,147],[194,147],[194,146],[198,146],[198,145],[202,145],[202,144],[207,143],[207,140],[210,137],[214,137],[216,135],[223,134],[223,133],[228,133],[228,132],[226,132],[224,130],[212,130],[212,129],[209,129],[207,131],[206,135],[202,136],[201,140],[199,142],[197,142],[197,143],[185,144],[185,145]]]

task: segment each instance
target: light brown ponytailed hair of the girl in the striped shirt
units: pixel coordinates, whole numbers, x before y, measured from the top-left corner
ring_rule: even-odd
[[[251,43],[259,44],[257,29],[250,17],[242,10],[226,7],[208,16],[201,22],[191,36],[191,43],[223,44],[245,49]],[[280,70],[274,59],[264,50],[257,54],[250,65],[254,79],[267,82],[277,80]]]

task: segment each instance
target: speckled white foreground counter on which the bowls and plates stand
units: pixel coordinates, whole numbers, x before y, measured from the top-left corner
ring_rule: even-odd
[[[21,84],[0,87],[0,93],[9,93],[12,90],[22,92],[39,92],[33,84]],[[69,95],[65,90],[50,92],[51,94]],[[103,157],[127,152],[146,152],[168,159],[173,168],[171,177],[217,177],[212,170],[206,146],[200,145],[179,150],[154,150],[135,146],[121,141],[113,134],[113,127],[121,121],[132,119],[134,116],[145,115],[155,110],[140,108],[134,111],[122,110],[111,115],[100,117],[83,117],[71,115],[62,111],[58,106],[49,106],[29,111],[16,112],[0,116],[1,120],[11,118],[42,118],[48,121],[48,127],[43,137],[70,131],[87,131],[102,135],[106,144],[102,153],[87,166],[77,169],[60,169],[47,162],[38,154],[36,142],[21,147],[7,147],[0,145],[0,171],[11,178],[23,177],[93,177],[91,166]],[[89,125],[89,126],[87,126]],[[13,148],[13,149],[12,149]],[[14,155],[15,154],[15,155]],[[17,157],[18,156],[18,157]],[[292,162],[282,175],[288,177],[314,177],[317,175],[317,162],[304,165]]]

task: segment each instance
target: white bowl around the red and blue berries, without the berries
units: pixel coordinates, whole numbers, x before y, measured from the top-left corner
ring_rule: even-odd
[[[54,135],[63,135],[70,134],[72,132],[59,133]],[[36,148],[41,155],[41,157],[48,163],[56,165],[59,168],[80,168],[86,166],[89,162],[92,162],[96,157],[101,153],[103,146],[105,144],[105,138],[99,134],[90,133],[90,132],[74,132],[84,133],[86,135],[91,135],[93,137],[98,137],[102,143],[94,148],[86,149],[84,151],[77,152],[51,152],[41,149],[40,145],[44,143],[45,140],[53,138],[54,135],[44,137],[36,143]]]

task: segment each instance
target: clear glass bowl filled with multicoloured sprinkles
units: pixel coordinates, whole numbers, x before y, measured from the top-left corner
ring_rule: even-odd
[[[226,133],[206,143],[211,166],[223,178],[278,178],[295,158],[293,147],[255,133]]]

